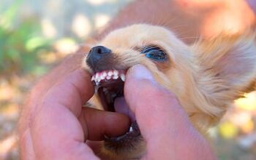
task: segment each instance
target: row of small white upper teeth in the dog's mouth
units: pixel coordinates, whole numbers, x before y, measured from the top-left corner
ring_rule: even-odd
[[[124,71],[102,71],[100,73],[95,73],[94,76],[91,77],[91,81],[95,81],[95,84],[99,85],[99,81],[102,81],[103,79],[109,80],[109,79],[118,79],[120,78],[122,81],[125,81],[125,74]]]

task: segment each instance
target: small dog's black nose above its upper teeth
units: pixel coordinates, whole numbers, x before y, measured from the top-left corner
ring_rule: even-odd
[[[89,55],[86,58],[86,63],[94,71],[97,71],[100,63],[108,59],[111,55],[111,50],[104,46],[97,46],[91,48]]]

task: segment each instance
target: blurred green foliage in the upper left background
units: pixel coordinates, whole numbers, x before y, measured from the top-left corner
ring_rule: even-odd
[[[41,35],[39,22],[35,18],[15,24],[21,1],[1,15],[0,23],[0,73],[1,76],[32,73],[40,75],[46,69],[39,60],[51,48],[51,41]]]

